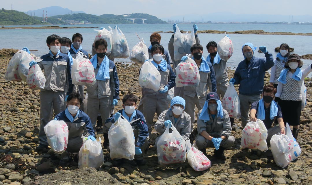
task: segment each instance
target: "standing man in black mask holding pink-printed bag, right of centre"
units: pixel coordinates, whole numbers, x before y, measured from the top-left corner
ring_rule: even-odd
[[[202,52],[202,45],[193,44],[193,46],[191,46],[191,53],[193,55],[192,59],[198,67],[200,81],[198,87],[194,85],[184,88],[183,98],[186,102],[185,112],[191,116],[192,130],[193,122],[195,121],[195,105],[198,110],[201,110],[205,104],[207,94],[209,92],[217,92],[216,76],[213,67],[202,56]],[[187,56],[183,56],[181,61],[186,61],[187,59]]]

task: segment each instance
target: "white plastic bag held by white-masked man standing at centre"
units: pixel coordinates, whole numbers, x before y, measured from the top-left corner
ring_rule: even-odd
[[[161,76],[159,71],[152,64],[153,59],[144,62],[139,74],[139,85],[144,88],[159,90]]]

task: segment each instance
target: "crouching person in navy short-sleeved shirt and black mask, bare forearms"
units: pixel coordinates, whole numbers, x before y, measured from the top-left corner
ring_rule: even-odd
[[[250,121],[257,121],[260,119],[266,125],[268,130],[268,137],[266,141],[270,143],[270,140],[274,134],[285,134],[285,124],[282,118],[282,110],[280,105],[277,105],[273,101],[276,88],[273,85],[267,85],[263,88],[262,99],[251,104],[250,109]],[[275,119],[279,126],[271,127]]]

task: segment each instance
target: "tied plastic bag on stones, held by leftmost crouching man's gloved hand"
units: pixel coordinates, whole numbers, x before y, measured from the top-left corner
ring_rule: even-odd
[[[100,168],[104,164],[104,155],[100,141],[92,141],[84,136],[81,137],[83,144],[79,150],[79,168]]]

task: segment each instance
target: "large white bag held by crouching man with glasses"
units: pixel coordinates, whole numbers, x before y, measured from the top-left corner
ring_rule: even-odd
[[[127,119],[119,117],[119,119],[110,126],[108,139],[110,143],[110,158],[125,158],[133,160],[135,138],[132,126]]]

